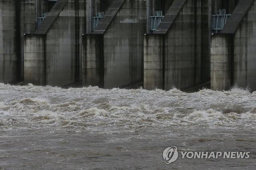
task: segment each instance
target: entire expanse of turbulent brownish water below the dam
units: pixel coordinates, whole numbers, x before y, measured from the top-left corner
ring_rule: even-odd
[[[11,86],[0,83],[0,168],[256,169],[256,92]],[[162,152],[249,151],[249,159]]]

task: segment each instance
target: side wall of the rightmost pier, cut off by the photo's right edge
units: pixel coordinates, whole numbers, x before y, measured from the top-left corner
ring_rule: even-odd
[[[256,90],[256,2],[234,35],[234,83]]]

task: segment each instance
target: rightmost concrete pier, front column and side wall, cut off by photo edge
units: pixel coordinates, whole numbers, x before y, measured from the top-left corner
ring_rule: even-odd
[[[212,36],[211,86],[213,89],[226,90],[236,84],[256,90],[255,3],[251,0],[239,2],[230,17],[233,19],[224,26],[223,32],[226,34]],[[217,67],[217,64],[222,66]]]

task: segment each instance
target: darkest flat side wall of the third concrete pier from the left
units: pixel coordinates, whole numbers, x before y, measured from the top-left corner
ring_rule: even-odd
[[[187,0],[167,33],[165,89],[209,81],[208,3]]]

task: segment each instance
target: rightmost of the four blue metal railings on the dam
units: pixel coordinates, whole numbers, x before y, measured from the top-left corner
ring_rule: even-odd
[[[219,10],[218,14],[212,15],[212,33],[219,33],[223,30],[231,14],[226,14],[226,10]]]

